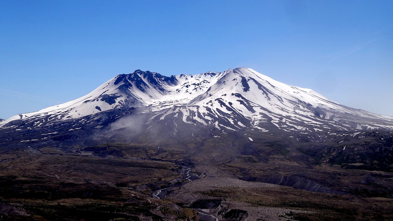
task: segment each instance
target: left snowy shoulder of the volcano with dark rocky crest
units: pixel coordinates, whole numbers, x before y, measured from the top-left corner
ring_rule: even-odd
[[[35,122],[34,126],[39,126],[48,121],[81,118],[106,110],[140,107],[146,105],[152,98],[159,98],[163,90],[162,85],[174,83],[176,83],[174,78],[136,70],[133,74],[122,74],[110,79],[81,98],[36,112],[13,116],[2,122],[2,125],[14,120],[42,119],[42,122]]]

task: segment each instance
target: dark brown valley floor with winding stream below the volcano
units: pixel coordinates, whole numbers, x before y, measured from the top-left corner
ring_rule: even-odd
[[[0,176],[0,220],[393,219],[393,174],[280,158],[204,164],[44,147],[1,153]]]

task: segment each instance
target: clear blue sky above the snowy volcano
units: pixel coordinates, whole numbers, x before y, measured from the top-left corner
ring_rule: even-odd
[[[248,67],[393,116],[393,1],[0,0],[0,118],[136,69]]]

